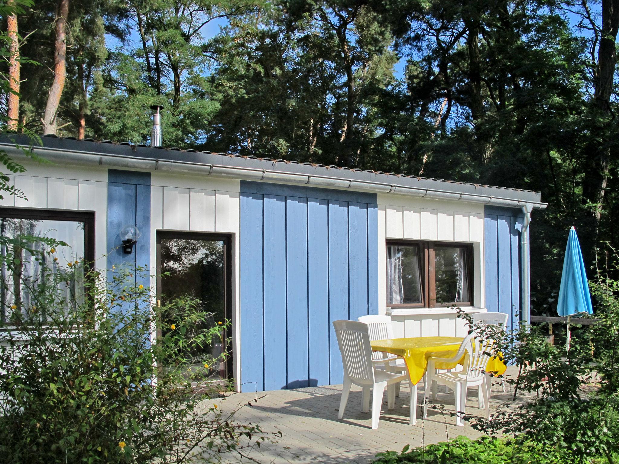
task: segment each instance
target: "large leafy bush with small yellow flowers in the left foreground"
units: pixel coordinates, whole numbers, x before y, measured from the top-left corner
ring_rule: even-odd
[[[79,302],[62,285],[76,267],[32,286],[31,317],[0,337],[2,462],[210,462],[218,452],[243,453],[242,440],[265,439],[259,426],[222,412],[221,398],[194,392],[208,366],[188,353],[221,330],[195,330],[207,317],[196,301],[157,308],[177,310],[162,327],[150,288],[136,283],[141,270],[137,279],[129,269],[109,280],[90,272]]]

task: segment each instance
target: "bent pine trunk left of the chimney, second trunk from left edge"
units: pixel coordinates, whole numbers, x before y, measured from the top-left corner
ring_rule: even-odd
[[[58,132],[58,108],[63,95],[64,81],[67,77],[67,23],[69,17],[69,0],[59,0],[56,9],[56,51],[54,53],[54,81],[47,98],[43,115],[43,135]]]

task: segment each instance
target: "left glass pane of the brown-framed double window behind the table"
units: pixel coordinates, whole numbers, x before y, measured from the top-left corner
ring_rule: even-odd
[[[422,303],[420,251],[417,245],[387,246],[387,302]]]

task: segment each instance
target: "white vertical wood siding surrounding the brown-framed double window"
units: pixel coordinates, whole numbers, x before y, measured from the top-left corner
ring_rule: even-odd
[[[474,304],[477,308],[483,307],[483,236],[483,205],[378,195],[379,314],[387,311],[385,247],[388,239],[472,243]],[[477,312],[480,309],[471,311]],[[464,336],[466,333],[462,319],[445,308],[396,310],[392,319],[396,337]]]

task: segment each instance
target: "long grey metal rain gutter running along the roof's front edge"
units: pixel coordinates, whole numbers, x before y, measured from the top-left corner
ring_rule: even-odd
[[[0,144],[4,145],[4,144]],[[17,157],[24,157],[15,145],[5,145],[7,150]],[[376,193],[405,195],[409,197],[423,197],[435,200],[451,200],[482,203],[486,205],[520,208],[523,205],[532,205],[534,209],[544,209],[547,205],[541,202],[527,202],[510,198],[495,197],[492,195],[451,192],[441,189],[426,189],[423,187],[397,186],[395,184],[374,181],[358,181],[353,179],[321,176],[316,174],[297,174],[284,171],[242,168],[239,166],[223,166],[217,164],[191,163],[191,161],[160,160],[158,158],[127,157],[97,152],[76,150],[61,150],[58,148],[35,147],[41,156],[58,163],[80,163],[82,165],[113,166],[149,171],[173,171],[188,174],[206,174],[216,177],[230,177],[236,179],[262,180],[272,182],[288,182],[294,184],[314,185],[340,189],[365,190]]]

